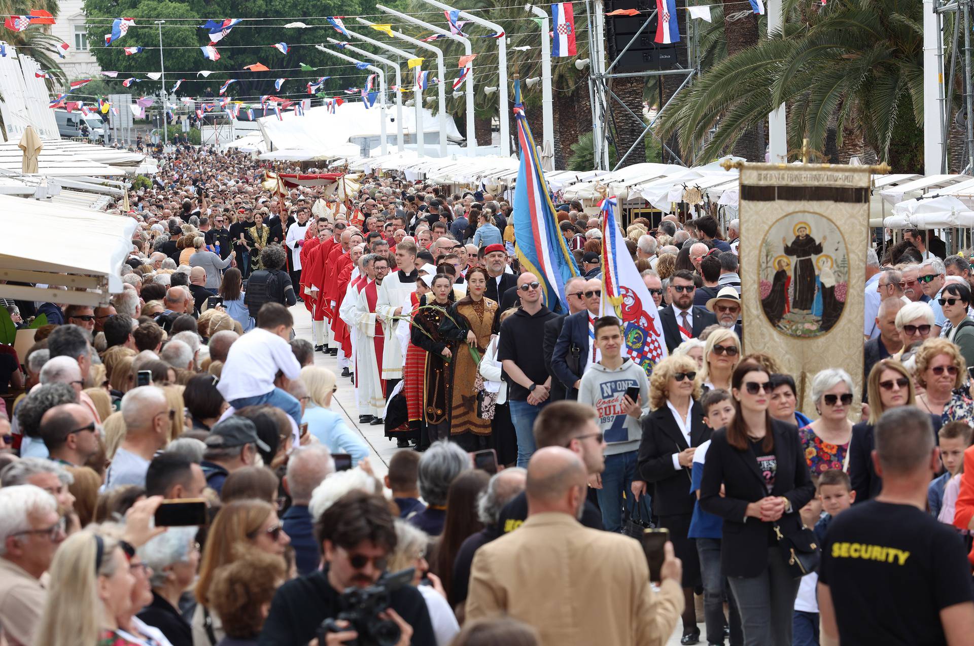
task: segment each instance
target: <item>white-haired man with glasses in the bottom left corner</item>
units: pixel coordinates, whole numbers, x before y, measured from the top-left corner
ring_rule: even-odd
[[[33,484],[0,489],[0,625],[14,645],[33,644],[47,592],[41,576],[64,540],[55,497]]]

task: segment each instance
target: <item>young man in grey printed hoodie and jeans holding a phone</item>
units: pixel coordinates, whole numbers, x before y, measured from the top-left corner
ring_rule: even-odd
[[[636,462],[642,434],[640,418],[649,411],[650,383],[642,366],[622,356],[618,318],[598,318],[594,329],[594,347],[602,355],[599,361],[589,363],[581,376],[579,403],[595,409],[605,435],[605,470],[593,480],[602,524],[606,531],[619,531],[623,506],[631,516],[635,503],[646,492]]]

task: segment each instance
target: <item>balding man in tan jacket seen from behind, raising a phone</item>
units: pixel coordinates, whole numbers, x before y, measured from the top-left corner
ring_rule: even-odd
[[[682,564],[666,544],[659,592],[628,536],[582,526],[586,472],[548,447],[528,465],[528,520],[473,556],[467,620],[506,614],[538,629],[543,646],[665,643],[683,612]]]

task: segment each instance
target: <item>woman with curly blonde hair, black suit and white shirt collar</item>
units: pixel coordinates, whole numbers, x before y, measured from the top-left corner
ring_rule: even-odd
[[[659,524],[669,529],[676,556],[683,561],[683,612],[681,644],[695,644],[696,628],[693,588],[700,585],[700,562],[693,539],[688,538],[693,502],[690,492],[693,451],[710,438],[697,400],[700,384],[696,360],[688,355],[660,361],[650,377],[651,413],[643,418],[643,439],[639,445],[639,474],[653,485],[653,512]]]

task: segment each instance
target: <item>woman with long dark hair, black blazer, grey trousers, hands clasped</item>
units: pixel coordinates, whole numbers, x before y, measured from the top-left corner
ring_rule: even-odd
[[[798,428],[768,414],[768,372],[743,362],[731,386],[734,418],[711,437],[700,507],[724,519],[721,565],[737,599],[745,645],[791,644],[801,579],[788,570],[772,526],[786,536],[801,530],[799,510],[815,485]]]

